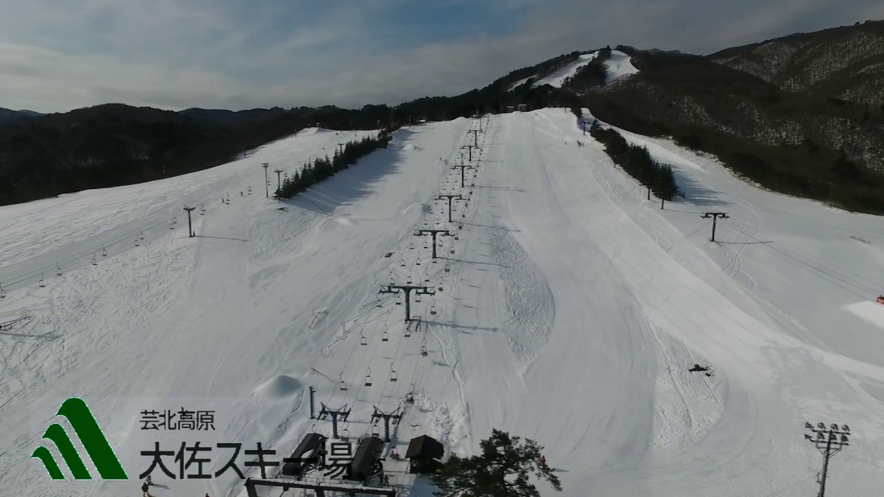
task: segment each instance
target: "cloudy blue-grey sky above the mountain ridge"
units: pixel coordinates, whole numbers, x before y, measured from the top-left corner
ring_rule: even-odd
[[[880,0],[0,0],[0,107],[178,111],[453,96],[606,45],[706,54]]]

